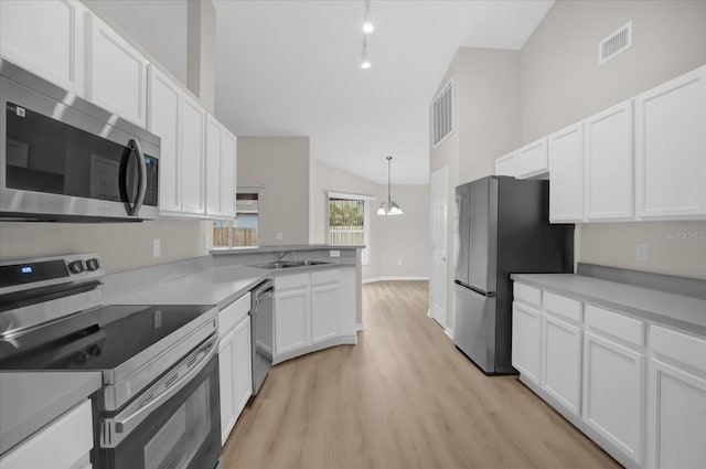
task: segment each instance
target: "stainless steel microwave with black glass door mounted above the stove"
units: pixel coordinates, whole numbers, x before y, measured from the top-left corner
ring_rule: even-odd
[[[159,216],[159,137],[0,58],[0,218]]]

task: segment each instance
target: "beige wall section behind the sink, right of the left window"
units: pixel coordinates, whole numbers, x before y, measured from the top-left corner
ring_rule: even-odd
[[[261,246],[309,243],[309,137],[238,137],[238,188],[264,184]]]

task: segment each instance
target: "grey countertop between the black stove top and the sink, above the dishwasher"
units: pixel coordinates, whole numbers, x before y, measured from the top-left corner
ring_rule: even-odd
[[[249,291],[269,270],[248,266],[213,267],[113,300],[115,305],[214,305],[224,308]]]

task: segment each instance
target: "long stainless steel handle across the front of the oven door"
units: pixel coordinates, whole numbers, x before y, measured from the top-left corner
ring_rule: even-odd
[[[183,390],[201,371],[206,367],[211,359],[218,353],[218,337],[214,337],[207,343],[204,343],[200,349],[189,354],[179,365],[186,363],[188,372],[181,376],[170,376],[162,379],[157,383],[156,387],[165,387],[165,390],[153,397],[150,397],[147,402],[142,402],[137,409],[128,406],[125,411],[119,413],[113,418],[104,418],[100,420],[100,447],[101,448],[115,448],[135,428],[138,427],[149,415],[162,404],[173,397],[176,393]],[[194,359],[201,359],[194,361]],[[126,415],[127,414],[127,415]]]

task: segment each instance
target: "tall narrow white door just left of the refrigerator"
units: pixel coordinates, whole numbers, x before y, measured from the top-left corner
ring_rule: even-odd
[[[449,169],[443,167],[431,174],[431,277],[429,278],[429,310],[442,328],[447,328],[447,230],[449,200]]]

